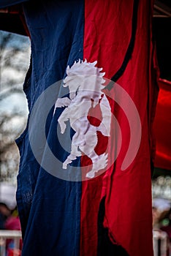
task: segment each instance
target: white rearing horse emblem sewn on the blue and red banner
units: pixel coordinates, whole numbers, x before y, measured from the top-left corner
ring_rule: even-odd
[[[75,131],[72,137],[71,152],[63,162],[63,169],[72,163],[77,157],[86,154],[92,161],[92,169],[86,174],[88,178],[94,178],[95,173],[107,166],[107,154],[98,155],[94,151],[97,144],[97,132],[110,137],[111,109],[107,97],[102,92],[104,86],[104,73],[102,68],[95,67],[97,61],[88,63],[75,61],[71,68],[66,69],[64,87],[69,88],[69,98],[58,98],[56,108],[66,107],[58,118],[61,134],[66,129],[65,122],[69,120],[70,126]],[[99,104],[102,120],[99,126],[94,126],[88,121],[88,111]],[[55,111],[54,110],[54,111]],[[94,116],[98,118],[98,116]]]

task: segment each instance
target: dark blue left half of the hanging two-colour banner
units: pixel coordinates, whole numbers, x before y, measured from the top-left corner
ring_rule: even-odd
[[[31,65],[23,87],[31,114],[39,95],[64,78],[67,65],[83,59],[84,3],[26,3],[24,12],[31,34]],[[53,118],[52,111],[46,124],[47,143],[58,155],[58,111]],[[16,142],[20,149],[17,200],[23,230],[22,255],[79,255],[81,182],[56,178],[40,167],[31,151],[28,126]],[[80,159],[75,165],[80,166]],[[69,168],[71,172],[72,166]]]

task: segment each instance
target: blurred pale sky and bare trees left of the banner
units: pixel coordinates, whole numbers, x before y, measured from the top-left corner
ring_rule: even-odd
[[[15,139],[28,114],[23,80],[30,59],[28,37],[0,31],[0,181],[16,184],[18,148]]]

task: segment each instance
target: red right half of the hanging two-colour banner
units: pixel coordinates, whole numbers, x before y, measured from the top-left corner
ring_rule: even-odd
[[[83,181],[81,203],[80,255],[96,255],[97,213],[100,197],[106,196],[104,227],[112,241],[121,244],[130,256],[152,256],[151,214],[151,124],[156,95],[151,80],[153,52],[151,43],[151,5],[141,0],[138,10],[137,35],[132,59],[118,84],[125,89],[140,115],[142,140],[132,165],[121,171],[121,164],[129,147],[130,129],[121,108],[110,102],[122,132],[122,146],[118,159],[107,172],[91,181]],[[98,61],[106,78],[121,67],[132,31],[133,1],[85,1],[84,58]],[[152,69],[153,71],[153,69]],[[113,91],[111,91],[113,93]],[[124,99],[123,99],[124,101]],[[139,131],[137,131],[139,132]],[[115,154],[113,141],[110,154]],[[82,159],[85,162],[87,159]]]

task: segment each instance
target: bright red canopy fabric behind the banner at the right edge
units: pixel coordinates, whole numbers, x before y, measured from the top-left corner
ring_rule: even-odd
[[[171,82],[159,79],[159,97],[154,120],[155,167],[171,170]]]

